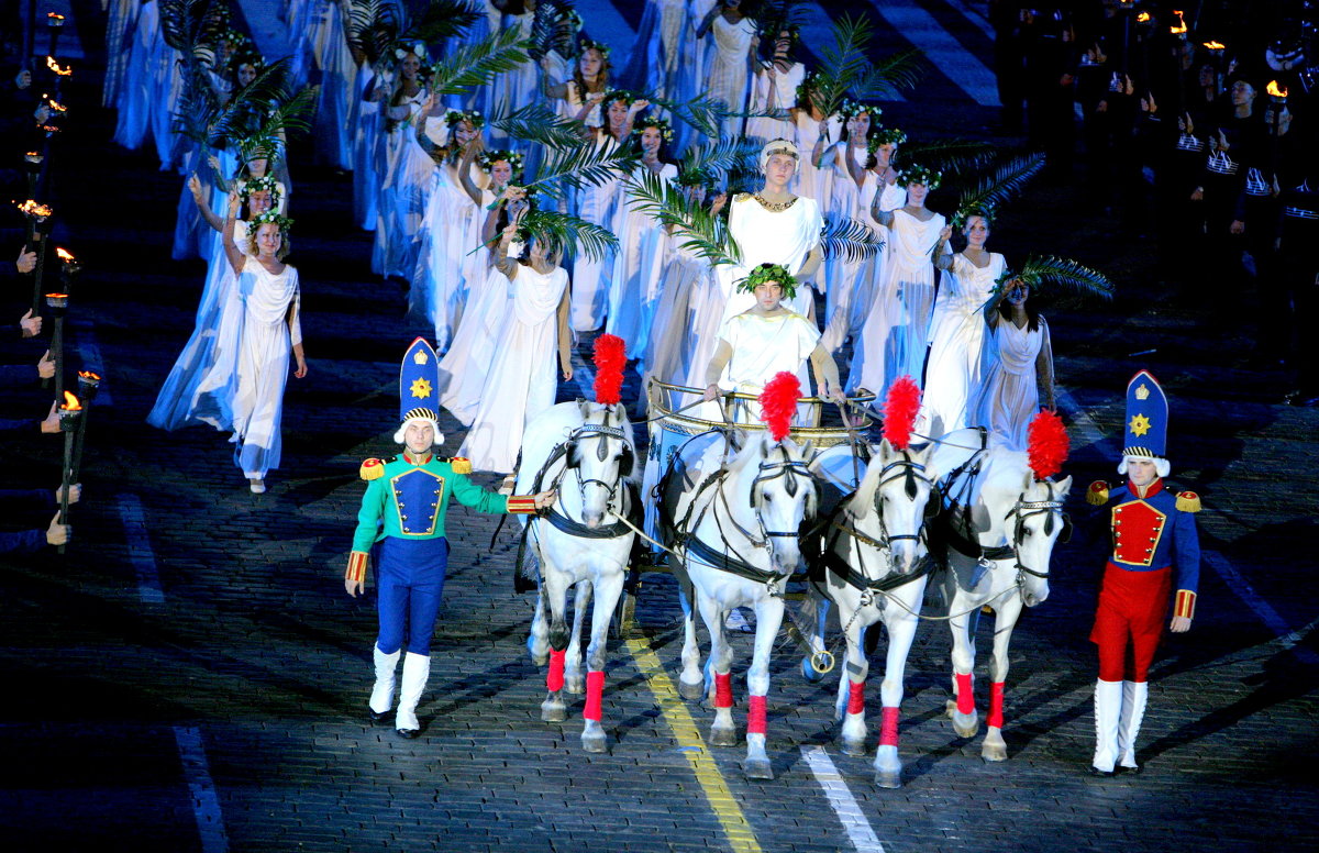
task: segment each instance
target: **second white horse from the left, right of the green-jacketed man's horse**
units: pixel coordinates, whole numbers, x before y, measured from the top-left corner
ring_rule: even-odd
[[[729,439],[720,439],[720,443]],[[727,451],[732,451],[729,443]],[[710,452],[719,452],[714,448]],[[747,759],[743,770],[751,779],[773,779],[765,753],[765,696],[769,692],[769,655],[783,620],[783,583],[801,563],[799,530],[814,517],[818,496],[807,465],[810,446],[791,439],[773,440],[760,432],[745,439],[736,456],[714,476],[694,486],[681,477],[665,481],[679,496],[669,530],[667,546],[679,555],[690,587],[695,589],[700,618],[710,632],[710,662],[714,672],[715,721],[710,742],[736,746],[732,717],[729,667],[732,646],[724,635],[729,610],[749,606],[756,612],[756,647],[747,672]],[[689,584],[683,581],[686,588]],[[683,695],[700,693],[704,678],[696,647],[695,618],[683,604],[682,675]]]

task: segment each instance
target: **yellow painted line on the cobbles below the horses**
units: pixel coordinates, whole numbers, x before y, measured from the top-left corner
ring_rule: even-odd
[[[728,782],[719,773],[715,757],[706,749],[706,741],[700,736],[700,729],[696,728],[695,720],[687,712],[686,703],[678,695],[678,690],[673,686],[673,679],[669,678],[669,674],[665,672],[663,666],[660,663],[660,658],[650,649],[650,643],[645,638],[633,637],[627,641],[627,646],[628,651],[632,653],[632,658],[637,662],[637,668],[646,676],[646,686],[656,697],[656,704],[660,705],[660,711],[663,713],[669,728],[673,729],[674,740],[682,748],[682,754],[687,757],[691,771],[695,774],[696,782],[700,783],[700,788],[706,794],[706,800],[710,803],[710,809],[715,812],[715,817],[719,819],[719,824],[724,828],[729,849],[733,853],[761,853],[760,844],[756,842],[756,833],[752,832],[751,824],[747,823],[747,817],[737,806]]]

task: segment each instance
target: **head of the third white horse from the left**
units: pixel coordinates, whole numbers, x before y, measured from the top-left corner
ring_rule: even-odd
[[[926,555],[925,525],[939,512],[938,475],[931,464],[933,446],[898,450],[888,439],[874,448],[865,476],[852,500],[853,514],[874,510],[889,564],[909,575]]]

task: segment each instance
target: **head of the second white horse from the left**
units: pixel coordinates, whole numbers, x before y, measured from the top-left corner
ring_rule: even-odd
[[[768,434],[747,442],[729,467],[735,493],[747,489],[747,501],[758,530],[749,530],[769,550],[774,572],[790,575],[802,559],[799,533],[803,521],[815,518],[819,496],[810,472],[814,450],[789,438],[776,442]]]

